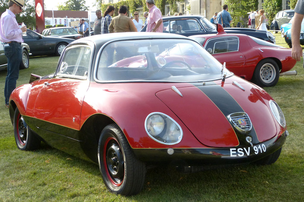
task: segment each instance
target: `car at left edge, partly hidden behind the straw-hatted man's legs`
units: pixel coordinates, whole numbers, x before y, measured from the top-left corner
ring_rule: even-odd
[[[4,54],[4,46],[7,46],[7,43],[0,41],[0,70],[7,68],[7,58]],[[20,63],[19,69],[29,68],[29,53],[30,48],[26,43],[21,43],[22,48],[22,62]]]

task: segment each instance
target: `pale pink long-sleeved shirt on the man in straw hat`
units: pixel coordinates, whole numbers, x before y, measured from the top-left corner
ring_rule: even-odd
[[[16,15],[9,9],[2,13],[0,18],[0,40],[2,42],[23,42],[22,31],[16,21]]]

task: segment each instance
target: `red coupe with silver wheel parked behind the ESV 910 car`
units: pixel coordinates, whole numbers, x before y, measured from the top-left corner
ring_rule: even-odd
[[[198,41],[226,68],[247,81],[264,86],[278,83],[280,73],[295,66],[291,49],[243,34],[226,34],[217,25],[218,34],[190,36]],[[295,75],[296,71],[291,75]]]

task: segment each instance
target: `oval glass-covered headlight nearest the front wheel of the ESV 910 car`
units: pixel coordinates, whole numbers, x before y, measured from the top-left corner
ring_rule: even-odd
[[[152,112],[147,116],[145,129],[149,137],[161,144],[178,144],[183,137],[180,125],[161,112]]]

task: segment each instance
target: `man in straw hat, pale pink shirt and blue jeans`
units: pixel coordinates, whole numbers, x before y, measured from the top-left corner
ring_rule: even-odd
[[[22,32],[26,31],[26,26],[19,28],[16,14],[22,11],[23,5],[24,0],[10,0],[9,9],[6,9],[0,18],[0,40],[4,43],[4,53],[7,57],[7,76],[4,87],[6,108],[9,108],[9,96],[16,88],[16,81],[19,77],[19,65],[22,61]]]

